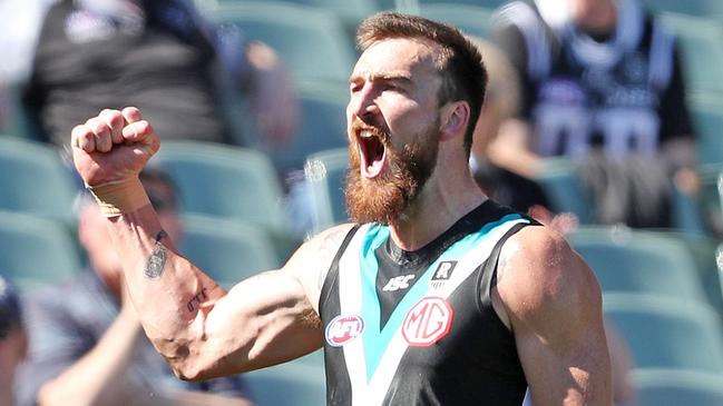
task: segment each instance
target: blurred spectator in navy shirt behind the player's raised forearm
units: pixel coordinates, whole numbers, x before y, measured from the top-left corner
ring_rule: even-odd
[[[141,181],[164,229],[179,237],[167,176],[145,171]],[[240,376],[186,383],[173,375],[126,295],[105,217],[85,200],[78,237],[88,269],[26,300],[30,351],[17,379],[20,405],[250,405]]]

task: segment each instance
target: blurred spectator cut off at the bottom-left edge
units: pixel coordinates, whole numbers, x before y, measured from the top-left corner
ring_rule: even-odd
[[[16,368],[26,357],[28,339],[18,295],[0,275],[0,405],[13,405]]]

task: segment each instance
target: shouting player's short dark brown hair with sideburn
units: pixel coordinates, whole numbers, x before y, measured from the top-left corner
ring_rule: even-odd
[[[436,61],[442,78],[439,103],[458,100],[469,103],[470,120],[465,132],[465,148],[469,154],[487,87],[487,70],[479,49],[452,26],[398,12],[374,14],[356,30],[356,46],[362,51],[390,38],[428,39],[442,48]]]

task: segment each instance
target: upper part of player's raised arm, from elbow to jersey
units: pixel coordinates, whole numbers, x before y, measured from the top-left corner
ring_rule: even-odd
[[[234,286],[213,304],[205,323],[214,376],[290,360],[321,347],[317,313],[323,280],[350,226],[304,244],[280,270]]]

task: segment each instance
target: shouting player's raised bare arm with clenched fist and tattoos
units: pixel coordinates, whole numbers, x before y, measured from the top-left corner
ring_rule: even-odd
[[[178,255],[148,204],[137,175],[158,138],[137,109],[104,110],[74,129],[72,147],[78,172],[108,217],[144,329],[179,377],[241,373],[321,346],[317,279],[334,251],[323,245],[343,228],[302,246],[282,269],[226,293]]]

